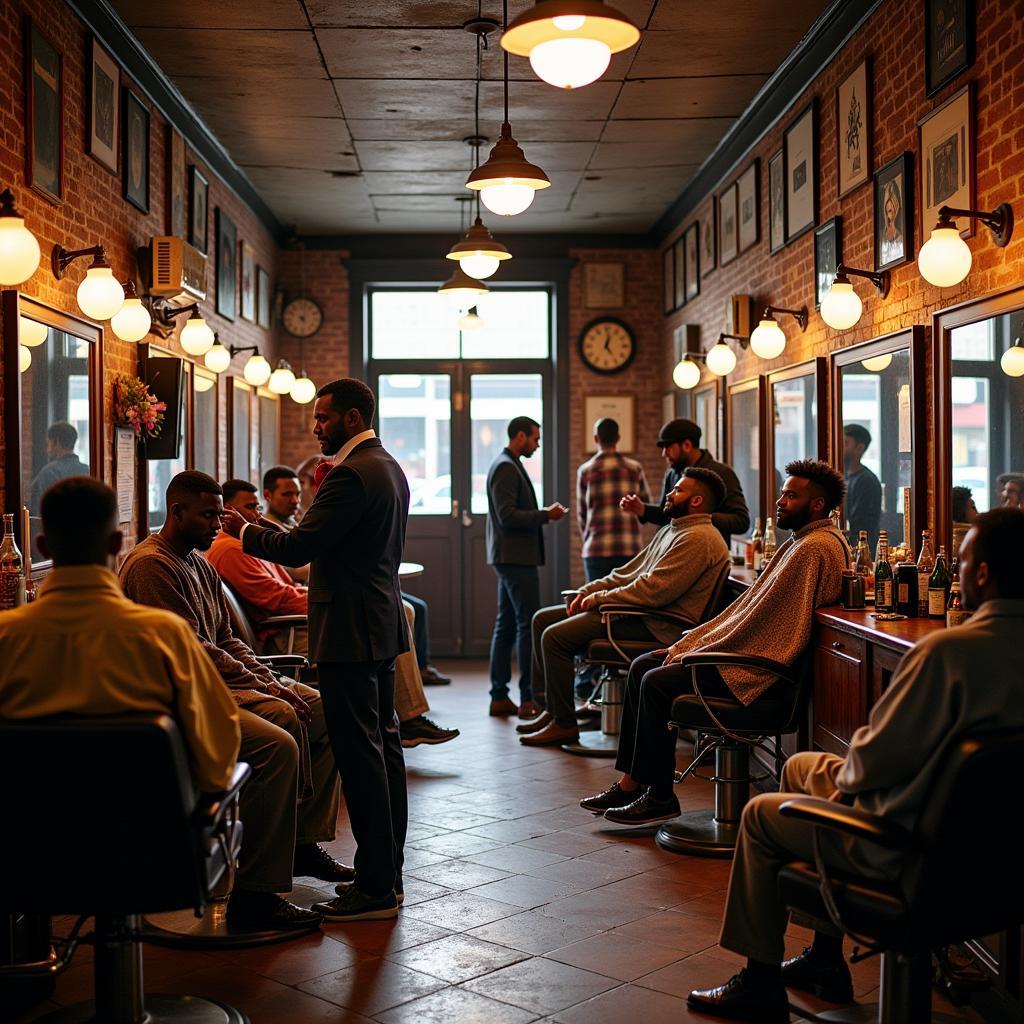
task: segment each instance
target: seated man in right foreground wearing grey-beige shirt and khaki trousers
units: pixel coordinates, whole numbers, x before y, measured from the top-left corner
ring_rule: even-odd
[[[790,1020],[786,986],[835,1002],[853,998],[838,932],[815,932],[810,947],[782,963],[787,913],[776,879],[790,861],[814,860],[814,825],[783,817],[779,807],[786,800],[801,794],[838,801],[912,833],[933,778],[962,739],[981,730],[1024,727],[1020,673],[1013,669],[1024,633],[1024,511],[979,516],[959,558],[964,604],[975,609],[972,617],[931,634],[904,656],[845,758],[794,755],[781,792],[755,797],[743,810],[721,942],[746,956],[746,967],[718,988],[691,992],[695,1010],[782,1024]],[[1016,780],[991,780],[1008,782]],[[898,878],[902,860],[902,854],[856,839],[826,843],[822,853],[839,872],[884,881]],[[984,869],[981,855],[978,870]]]

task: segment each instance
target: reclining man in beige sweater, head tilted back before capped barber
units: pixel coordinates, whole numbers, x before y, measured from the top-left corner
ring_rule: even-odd
[[[628,604],[675,612],[698,623],[715,586],[729,563],[729,549],[712,523],[725,501],[722,478],[711,469],[688,466],[665,500],[669,522],[635,558],[581,587],[568,607],[542,608],[534,615],[535,680],[544,680],[547,710],[518,727],[527,746],[557,745],[579,739],[573,701],[577,654],[605,635],[599,608]],[[636,616],[618,627],[621,638],[671,643],[679,625]]]

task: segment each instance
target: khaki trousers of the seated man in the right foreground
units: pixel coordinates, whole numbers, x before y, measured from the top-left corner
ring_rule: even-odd
[[[726,949],[763,964],[782,962],[790,913],[778,895],[778,871],[792,860],[813,863],[814,847],[813,826],[784,818],[778,809],[794,796],[830,799],[843,763],[834,754],[795,754],[782,768],[780,792],[755,797],[743,808],[722,922],[720,941]],[[870,851],[863,844],[829,836],[822,852],[826,863],[839,871],[886,877],[872,867]],[[820,931],[839,935],[831,928]]]

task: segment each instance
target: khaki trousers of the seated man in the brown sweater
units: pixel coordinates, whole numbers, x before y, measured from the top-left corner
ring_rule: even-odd
[[[334,839],[341,780],[324,721],[319,693],[302,683],[292,688],[309,705],[309,757],[313,795],[298,803],[299,720],[278,697],[247,701],[239,709],[242,750],[252,766],[242,788],[242,852],[239,889],[286,893],[292,888],[295,847]]]

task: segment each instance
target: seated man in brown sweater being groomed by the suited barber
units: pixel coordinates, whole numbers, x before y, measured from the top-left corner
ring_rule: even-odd
[[[317,691],[287,677],[279,681],[231,631],[220,578],[199,554],[213,544],[223,511],[212,476],[178,473],[167,486],[166,522],[129,554],[121,586],[133,601],[188,624],[239,707],[240,757],[253,778],[242,792],[245,833],[228,924],[303,929],[317,914],[279,895],[292,889],[293,874],[325,882],[354,877],[319,846],[335,837],[340,779]]]

